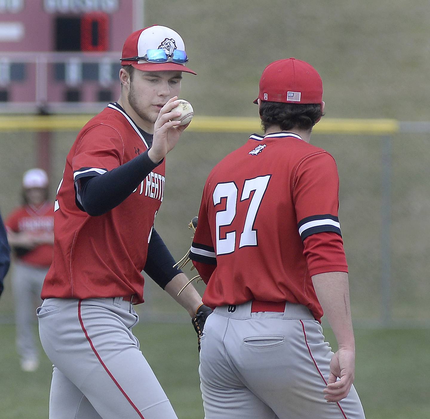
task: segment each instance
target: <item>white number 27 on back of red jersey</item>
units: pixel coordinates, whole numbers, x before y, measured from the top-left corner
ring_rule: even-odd
[[[271,175],[258,176],[254,179],[247,179],[243,185],[242,196],[240,201],[249,199],[251,192],[254,195],[249,203],[248,212],[246,213],[245,225],[243,232],[240,234],[239,248],[245,246],[257,246],[257,230],[253,230],[255,217],[261,200],[267,189]],[[216,213],[216,253],[217,255],[226,255],[234,252],[236,247],[236,231],[229,231],[224,239],[220,238],[220,228],[230,225],[236,216],[237,206],[237,186],[234,182],[218,183],[212,195],[214,205],[221,203],[222,198],[226,198],[225,210]]]

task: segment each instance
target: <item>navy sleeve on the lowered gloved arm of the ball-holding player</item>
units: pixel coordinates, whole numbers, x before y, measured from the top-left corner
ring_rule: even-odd
[[[175,263],[160,234],[153,228],[144,271],[164,290],[173,277],[182,272],[181,269],[173,268]]]

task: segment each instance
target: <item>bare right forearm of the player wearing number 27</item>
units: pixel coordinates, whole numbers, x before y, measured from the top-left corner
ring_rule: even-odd
[[[339,347],[355,348],[351,321],[348,274],[326,272],[312,277],[316,296]]]

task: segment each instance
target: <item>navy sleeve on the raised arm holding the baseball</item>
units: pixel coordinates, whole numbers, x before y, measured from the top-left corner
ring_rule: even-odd
[[[154,163],[145,151],[102,175],[77,179],[76,205],[90,216],[107,213],[132,194],[162,161]]]

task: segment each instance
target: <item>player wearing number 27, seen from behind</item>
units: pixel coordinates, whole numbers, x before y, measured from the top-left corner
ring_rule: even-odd
[[[209,174],[190,249],[214,309],[201,338],[205,417],[362,419],[338,171],[309,144],[324,109],[319,74],[293,58],[273,62],[255,103],[264,136]]]

